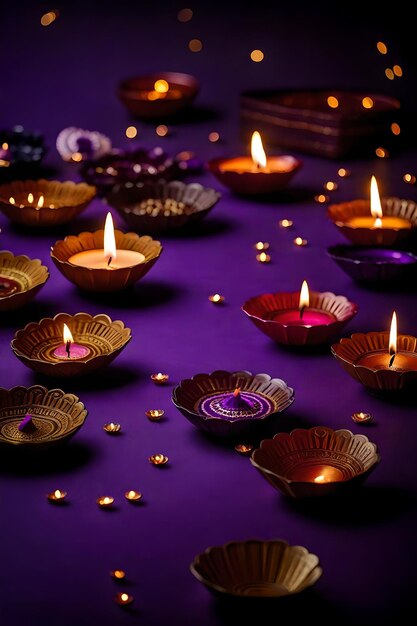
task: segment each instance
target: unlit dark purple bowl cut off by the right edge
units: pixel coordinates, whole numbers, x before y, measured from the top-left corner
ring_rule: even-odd
[[[417,276],[417,257],[393,248],[337,245],[327,248],[335,263],[358,283],[378,286],[411,285]]]

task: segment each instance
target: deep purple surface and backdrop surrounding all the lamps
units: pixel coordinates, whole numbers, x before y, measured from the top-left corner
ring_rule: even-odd
[[[280,3],[276,3],[277,5]],[[185,24],[177,2],[61,2],[59,19],[40,26],[46,2],[4,2],[0,18],[2,48],[0,127],[22,124],[45,134],[45,165],[59,180],[79,180],[76,165],[64,164],[55,149],[59,131],[69,125],[107,134],[115,147],[160,145],[169,152],[194,150],[203,160],[247,153],[240,141],[238,95],[255,87],[335,86],[380,91],[399,97],[414,113],[415,78],[411,65],[409,16],[374,17],[349,4],[337,13],[326,3],[274,3],[244,9],[240,3],[191,3],[194,18]],[[187,6],[187,5],[185,5]],[[391,9],[390,9],[391,11]],[[188,51],[201,38],[202,52]],[[376,42],[389,45],[382,57]],[[254,48],[265,52],[253,63]],[[384,68],[398,63],[404,77],[388,81]],[[194,113],[169,124],[159,138],[155,124],[133,121],[116,96],[119,80],[153,71],[185,71],[201,81]],[[139,133],[128,140],[134,123]],[[218,131],[212,144],[208,134]],[[411,125],[403,128],[412,137]],[[234,624],[243,617],[263,623],[299,617],[305,611],[323,624],[402,623],[402,611],[415,594],[417,426],[415,406],[371,396],[350,379],[329,348],[310,354],[274,345],[242,313],[251,296],[310,288],[344,294],[359,313],[345,334],[386,330],[395,308],[399,331],[417,333],[416,295],[380,293],[356,285],[326,254],[344,243],[326,218],[326,205],[314,202],[327,180],[339,183],[332,201],[366,197],[371,174],[381,195],[416,200],[416,188],[402,176],[415,172],[416,151],[407,144],[390,159],[329,161],[296,154],[304,162],[285,194],[261,202],[232,196],[211,174],[191,180],[213,186],[223,197],[193,233],[162,239],[164,251],[133,292],[98,297],[79,292],[53,266],[49,248],[66,234],[101,228],[107,207],[96,199],[74,223],[53,232],[13,227],[0,216],[0,247],[42,259],[51,278],[35,301],[0,320],[0,384],[44,384],[80,396],[89,416],[73,441],[52,458],[0,461],[0,615],[8,626],[30,624],[146,626],[167,623],[198,626]],[[270,153],[279,149],[264,145]],[[376,147],[376,146],[375,146]],[[337,177],[340,166],[352,176]],[[113,212],[116,224],[124,224]],[[294,220],[281,230],[278,220]],[[292,240],[308,239],[305,248]],[[272,262],[255,260],[253,244],[271,244]],[[213,305],[208,295],[226,301]],[[118,359],[92,379],[38,378],[9,348],[14,332],[30,321],[60,311],[105,312],[132,328],[133,339]],[[345,500],[294,504],[286,500],[233,447],[212,441],[194,428],[171,403],[181,379],[215,369],[247,369],[283,378],[295,388],[295,402],[275,431],[327,425],[366,434],[381,453],[381,463],[364,487]],[[156,387],[152,372],[170,375]],[[150,422],[150,408],[166,419]],[[358,426],[354,411],[371,412],[373,426]],[[119,437],[107,435],[105,422],[122,424]],[[165,468],[149,455],[170,458]],[[51,506],[45,494],[68,491],[68,505]],[[123,498],[128,489],[144,493],[143,505]],[[114,512],[101,511],[100,495],[116,499]],[[191,575],[194,556],[211,545],[249,538],[283,538],[319,555],[324,574],[311,593],[291,601],[246,607],[218,603]],[[123,568],[128,584],[109,576]],[[118,590],[135,596],[132,611],[114,602]],[[271,619],[271,618],[269,618]]]

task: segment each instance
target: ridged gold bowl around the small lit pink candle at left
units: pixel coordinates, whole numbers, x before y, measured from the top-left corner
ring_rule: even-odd
[[[73,357],[70,349],[69,358],[63,341],[64,324],[74,335]],[[58,313],[53,318],[27,324],[15,333],[10,345],[17,358],[38,374],[73,377],[109,365],[131,338],[130,328],[120,320],[112,321],[104,313],[94,316]],[[80,346],[82,352],[77,354]]]

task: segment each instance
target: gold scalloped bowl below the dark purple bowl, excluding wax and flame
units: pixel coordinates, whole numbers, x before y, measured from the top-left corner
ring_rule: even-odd
[[[412,392],[417,382],[417,371],[372,369],[358,364],[365,354],[375,351],[389,353],[389,333],[353,333],[331,347],[331,351],[343,369],[368,389],[377,392]],[[411,352],[417,356],[417,338],[398,335],[397,351]]]

